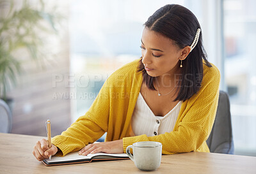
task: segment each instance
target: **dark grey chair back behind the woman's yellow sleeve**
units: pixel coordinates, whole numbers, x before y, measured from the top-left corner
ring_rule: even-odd
[[[210,152],[234,154],[230,103],[226,92],[220,91],[216,118],[206,142]]]

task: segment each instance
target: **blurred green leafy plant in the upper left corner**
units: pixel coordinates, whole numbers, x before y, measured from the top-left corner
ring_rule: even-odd
[[[25,49],[29,59],[40,64],[44,59],[44,52],[40,50],[44,45],[42,33],[56,34],[55,24],[61,18],[45,11],[42,0],[38,0],[36,7],[31,1],[24,0],[19,9],[15,8],[14,2],[0,0],[0,11],[5,11],[0,15],[0,97],[3,99],[22,72],[22,59],[15,52]]]

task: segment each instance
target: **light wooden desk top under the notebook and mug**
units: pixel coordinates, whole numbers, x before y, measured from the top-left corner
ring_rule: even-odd
[[[0,173],[146,173],[130,160],[44,166],[32,154],[41,136],[0,133]],[[162,156],[149,173],[256,173],[256,157],[190,152]]]

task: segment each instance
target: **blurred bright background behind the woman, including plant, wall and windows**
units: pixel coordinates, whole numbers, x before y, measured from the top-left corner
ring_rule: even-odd
[[[84,115],[113,71],[141,57],[147,18],[165,4],[193,11],[230,97],[235,154],[256,156],[256,1],[0,0],[0,97],[11,133],[52,136]]]

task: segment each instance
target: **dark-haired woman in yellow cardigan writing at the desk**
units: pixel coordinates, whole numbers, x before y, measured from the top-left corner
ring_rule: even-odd
[[[145,23],[141,59],[115,71],[90,110],[52,138],[51,149],[38,141],[36,159],[78,150],[123,153],[137,141],[159,141],[163,154],[209,152],[220,73],[206,59],[200,28],[183,6],[157,10]],[[105,142],[92,144],[105,132]]]

